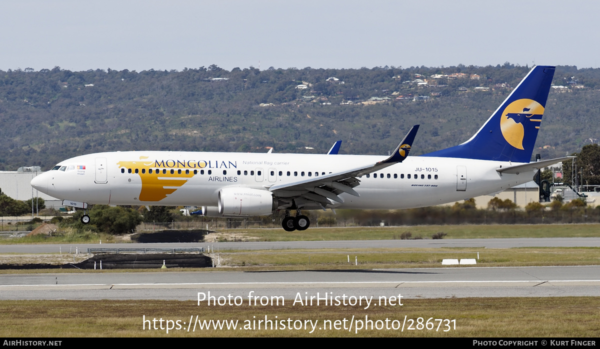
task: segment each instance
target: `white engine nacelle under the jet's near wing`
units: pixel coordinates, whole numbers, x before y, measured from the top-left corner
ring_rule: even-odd
[[[225,216],[265,216],[277,208],[272,192],[242,186],[221,189],[218,203],[218,213]]]

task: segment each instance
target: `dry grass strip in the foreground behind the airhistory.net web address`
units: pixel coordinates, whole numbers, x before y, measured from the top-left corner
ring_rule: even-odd
[[[544,298],[461,298],[461,299],[404,299],[402,306],[208,306],[204,302],[167,300],[3,300],[0,301],[0,328],[6,337],[598,337],[600,336],[600,297],[544,297]],[[146,320],[179,320],[190,317],[200,320],[238,320],[238,326],[253,324],[265,315],[275,320],[318,320],[317,329],[248,329],[248,330],[154,330],[143,329]],[[404,331],[363,329],[349,332],[349,322],[355,320],[382,320],[379,324],[398,320],[397,326],[407,319],[441,318],[455,320],[456,327],[440,330]],[[318,329],[325,320],[339,320],[346,329]],[[391,322],[390,322],[391,323]],[[151,323],[152,324],[152,323]],[[354,323],[356,324],[356,322]],[[436,323],[437,325],[437,323]],[[310,326],[310,325],[309,325]],[[391,326],[391,325],[390,325]],[[160,323],[157,322],[157,327]],[[163,327],[166,323],[163,322]],[[255,327],[255,328],[256,328]],[[413,327],[416,327],[416,322]]]

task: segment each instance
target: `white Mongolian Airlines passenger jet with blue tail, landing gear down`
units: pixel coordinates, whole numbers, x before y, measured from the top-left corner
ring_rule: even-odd
[[[31,180],[65,206],[201,206],[205,216],[271,215],[305,230],[302,210],[407,209],[500,192],[571,157],[531,163],[554,67],[538,65],[466,142],[408,157],[419,125],[377,155],[128,151],[61,161]],[[335,147],[335,145],[334,145]],[[292,216],[291,211],[296,210]]]

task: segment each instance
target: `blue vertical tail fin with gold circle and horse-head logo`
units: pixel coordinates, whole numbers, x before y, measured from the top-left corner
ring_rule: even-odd
[[[554,67],[534,67],[467,142],[422,156],[529,163],[553,77]]]

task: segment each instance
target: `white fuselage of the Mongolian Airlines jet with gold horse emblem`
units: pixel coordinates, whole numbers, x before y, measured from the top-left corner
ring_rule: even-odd
[[[38,190],[89,204],[216,206],[226,186],[268,190],[344,169],[373,164],[371,155],[256,154],[211,152],[105,152],[62,161],[32,181]],[[340,194],[329,207],[406,209],[502,191],[532,179],[496,172],[515,165],[463,158],[408,157],[359,177],[359,197]],[[137,173],[136,173],[137,172]],[[157,173],[158,172],[158,173]],[[383,176],[383,177],[382,177]]]

